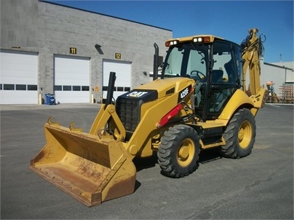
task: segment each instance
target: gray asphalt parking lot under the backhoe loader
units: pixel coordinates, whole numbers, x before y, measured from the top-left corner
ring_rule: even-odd
[[[1,106],[1,219],[293,219],[293,106],[259,110],[248,157],[203,151],[199,168],[182,179],[164,177],[156,158],[135,161],[135,192],[88,208],[28,166],[45,144],[48,117],[88,131],[98,110]]]

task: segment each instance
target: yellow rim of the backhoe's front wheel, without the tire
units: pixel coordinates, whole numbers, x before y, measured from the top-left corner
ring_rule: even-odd
[[[195,143],[191,139],[184,139],[177,150],[177,163],[182,167],[188,166],[193,161],[194,154]]]

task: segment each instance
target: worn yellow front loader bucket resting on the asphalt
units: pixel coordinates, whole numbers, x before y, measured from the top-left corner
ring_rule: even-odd
[[[120,141],[50,123],[45,135],[30,169],[81,203],[96,206],[134,192],[136,168]]]

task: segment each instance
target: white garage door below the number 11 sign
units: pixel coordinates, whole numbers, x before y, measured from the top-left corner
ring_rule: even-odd
[[[90,103],[90,58],[55,55],[54,92],[59,103]]]

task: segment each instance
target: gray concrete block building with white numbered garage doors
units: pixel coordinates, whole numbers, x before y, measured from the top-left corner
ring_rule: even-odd
[[[1,0],[1,104],[100,102],[151,81],[171,30],[38,0]],[[51,96],[52,97],[52,96]]]

